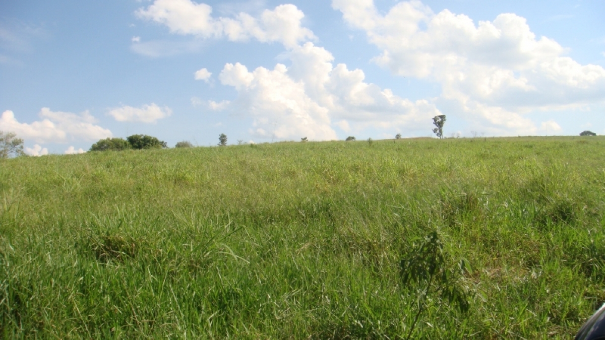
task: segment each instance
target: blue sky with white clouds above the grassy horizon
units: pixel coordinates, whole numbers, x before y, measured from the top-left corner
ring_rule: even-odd
[[[0,0],[0,131],[30,155],[605,134],[605,1]]]

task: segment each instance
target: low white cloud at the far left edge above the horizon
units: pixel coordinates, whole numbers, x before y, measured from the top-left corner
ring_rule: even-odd
[[[96,141],[111,137],[111,131],[103,129],[88,111],[73,114],[50,111],[42,108],[41,121],[31,124],[19,123],[13,111],[4,111],[0,118],[0,130],[13,131],[22,139],[34,140],[37,143],[65,143],[68,140]]]

